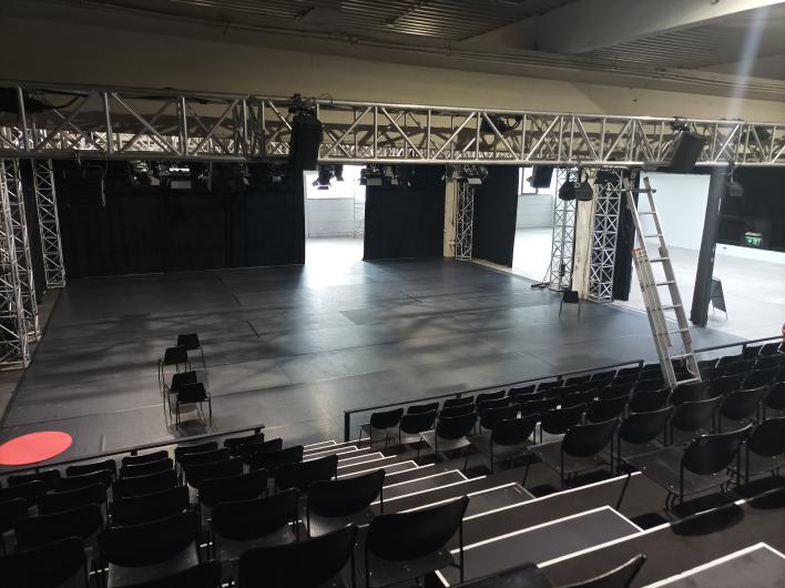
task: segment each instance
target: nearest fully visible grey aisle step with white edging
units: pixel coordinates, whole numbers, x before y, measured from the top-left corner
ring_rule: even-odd
[[[495,574],[522,561],[546,561],[640,531],[640,527],[616,510],[603,506],[510,534],[495,535],[483,541],[467,541],[463,547],[466,579]],[[458,549],[453,549],[453,555],[458,556]],[[459,584],[459,572],[455,568],[442,569],[440,575],[447,586]]]

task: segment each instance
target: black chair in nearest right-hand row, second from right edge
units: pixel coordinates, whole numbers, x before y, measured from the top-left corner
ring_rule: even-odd
[[[728,433],[699,435],[686,447],[673,446],[624,459],[639,469],[649,479],[667,491],[665,508],[672,510],[685,496],[702,494],[716,487],[724,487],[731,481],[733,472],[728,469],[736,462],[736,472],[741,472],[740,447],[750,435],[752,425]],[[628,475],[632,475],[632,470]],[[624,485],[624,490],[626,484]],[[619,505],[624,491],[619,499]]]

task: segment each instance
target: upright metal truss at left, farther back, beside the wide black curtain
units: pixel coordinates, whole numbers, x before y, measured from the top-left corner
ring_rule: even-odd
[[[60,243],[60,220],[52,160],[33,160],[32,170],[47,287],[65,287],[65,264]]]

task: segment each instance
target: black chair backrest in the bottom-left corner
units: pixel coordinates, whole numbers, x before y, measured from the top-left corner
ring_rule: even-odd
[[[84,547],[78,537],[0,557],[0,578],[9,588],[89,588],[88,572]]]

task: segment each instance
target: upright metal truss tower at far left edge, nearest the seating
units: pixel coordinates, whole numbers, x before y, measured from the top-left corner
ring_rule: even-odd
[[[30,348],[6,165],[0,160],[0,368],[17,368],[28,366]]]

